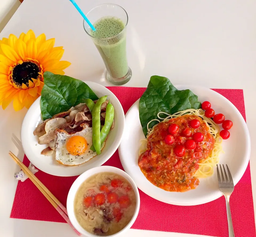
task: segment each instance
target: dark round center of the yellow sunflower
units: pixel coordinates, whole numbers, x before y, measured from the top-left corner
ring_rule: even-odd
[[[28,87],[29,80],[31,80],[31,78],[37,79],[39,72],[41,72],[39,65],[31,61],[25,61],[22,64],[14,66],[11,80],[19,88],[22,88],[22,83]]]

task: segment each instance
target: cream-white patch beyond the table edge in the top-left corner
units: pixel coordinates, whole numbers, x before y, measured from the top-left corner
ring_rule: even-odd
[[[19,0],[0,0],[0,32],[20,5]]]

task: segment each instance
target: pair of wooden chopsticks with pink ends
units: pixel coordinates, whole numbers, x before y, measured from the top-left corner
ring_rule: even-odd
[[[48,199],[51,205],[58,211],[59,214],[65,219],[65,221],[71,226],[71,228],[77,233],[77,235],[82,235],[78,232],[74,226],[71,224],[68,216],[67,216],[67,209],[64,207],[61,202],[50,192],[49,189],[46,188],[45,185],[29,170],[29,168],[24,165],[17,156],[15,156],[11,151],[9,151],[9,155],[13,160],[21,167],[23,172],[29,177],[29,179],[33,182],[35,186],[41,191],[41,193]]]

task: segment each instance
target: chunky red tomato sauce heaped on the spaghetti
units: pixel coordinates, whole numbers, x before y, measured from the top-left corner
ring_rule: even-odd
[[[189,126],[192,119],[200,121],[198,128]],[[165,137],[169,134],[168,128],[172,123],[179,126],[179,131],[174,135],[174,143],[168,145],[165,143]],[[184,145],[186,140],[192,139],[183,135],[185,129],[190,129],[192,135],[201,132],[204,138],[202,142],[196,142],[197,146],[194,150],[186,149],[185,155],[178,157],[174,153],[174,147]],[[185,192],[197,188],[199,180],[193,175],[199,168],[198,163],[211,154],[215,142],[209,128],[200,117],[183,115],[168,122],[161,122],[155,126],[147,140],[147,150],[138,160],[138,165],[147,180],[161,189],[172,192]]]

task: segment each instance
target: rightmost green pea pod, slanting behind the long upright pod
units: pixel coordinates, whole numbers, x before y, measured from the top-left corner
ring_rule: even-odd
[[[113,120],[114,120],[114,106],[109,101],[109,103],[107,104],[107,107],[106,107],[105,123],[101,129],[101,135],[100,135],[101,136],[101,145],[106,140],[107,135],[109,134]],[[95,151],[94,145],[92,145],[90,149],[92,151]]]

